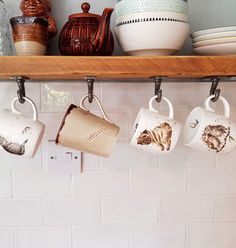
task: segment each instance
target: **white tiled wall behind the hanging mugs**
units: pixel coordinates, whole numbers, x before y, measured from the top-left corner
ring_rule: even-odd
[[[94,12],[114,2],[94,1]],[[219,7],[215,0],[201,4],[207,2],[212,9]],[[232,5],[233,1],[224,1],[225,6],[228,2]],[[7,3],[9,12],[17,14],[14,6],[18,3]],[[211,9],[202,8],[200,0],[190,4],[201,11]],[[80,4],[54,0],[53,5],[62,25]],[[227,12],[227,17],[231,14]],[[207,26],[206,19],[198,21],[195,27]],[[181,140],[168,156],[131,148],[134,118],[142,106],[147,107],[154,85],[101,82],[95,93],[108,116],[121,126],[113,155],[100,159],[85,154],[84,173],[79,175],[49,174],[43,170],[42,158],[47,154],[41,151],[48,139],[55,138],[70,102],[48,104],[48,86],[68,92],[77,104],[87,92],[85,84],[71,82],[26,85],[47,129],[34,160],[0,155],[1,248],[236,248],[235,152],[225,156],[196,152]],[[222,83],[220,87],[236,121],[236,85]],[[163,85],[163,92],[183,124],[189,111],[208,96],[209,88],[208,83],[169,83]],[[10,107],[16,89],[12,83],[0,84],[1,108]],[[160,108],[166,110],[164,104]]]

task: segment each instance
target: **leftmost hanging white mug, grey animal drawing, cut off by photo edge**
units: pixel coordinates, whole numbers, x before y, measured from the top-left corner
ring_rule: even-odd
[[[14,155],[32,158],[39,148],[45,125],[38,120],[34,102],[27,97],[24,99],[33,108],[33,118],[17,110],[18,98],[14,98],[12,110],[4,110],[0,113],[0,148]]]

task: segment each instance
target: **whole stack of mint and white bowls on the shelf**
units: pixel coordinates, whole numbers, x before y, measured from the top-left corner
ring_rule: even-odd
[[[187,0],[119,0],[115,34],[126,54],[171,55],[189,32]]]

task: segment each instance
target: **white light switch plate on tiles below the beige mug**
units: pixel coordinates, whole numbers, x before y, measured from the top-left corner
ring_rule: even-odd
[[[53,174],[81,173],[81,152],[56,145],[55,140],[48,140],[43,145],[43,169]]]

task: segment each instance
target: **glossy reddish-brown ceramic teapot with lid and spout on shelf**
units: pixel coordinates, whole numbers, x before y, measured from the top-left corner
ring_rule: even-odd
[[[89,13],[90,5],[81,5],[83,13],[69,16],[59,37],[62,55],[111,55],[114,39],[110,31],[113,9],[106,8],[102,16]]]

